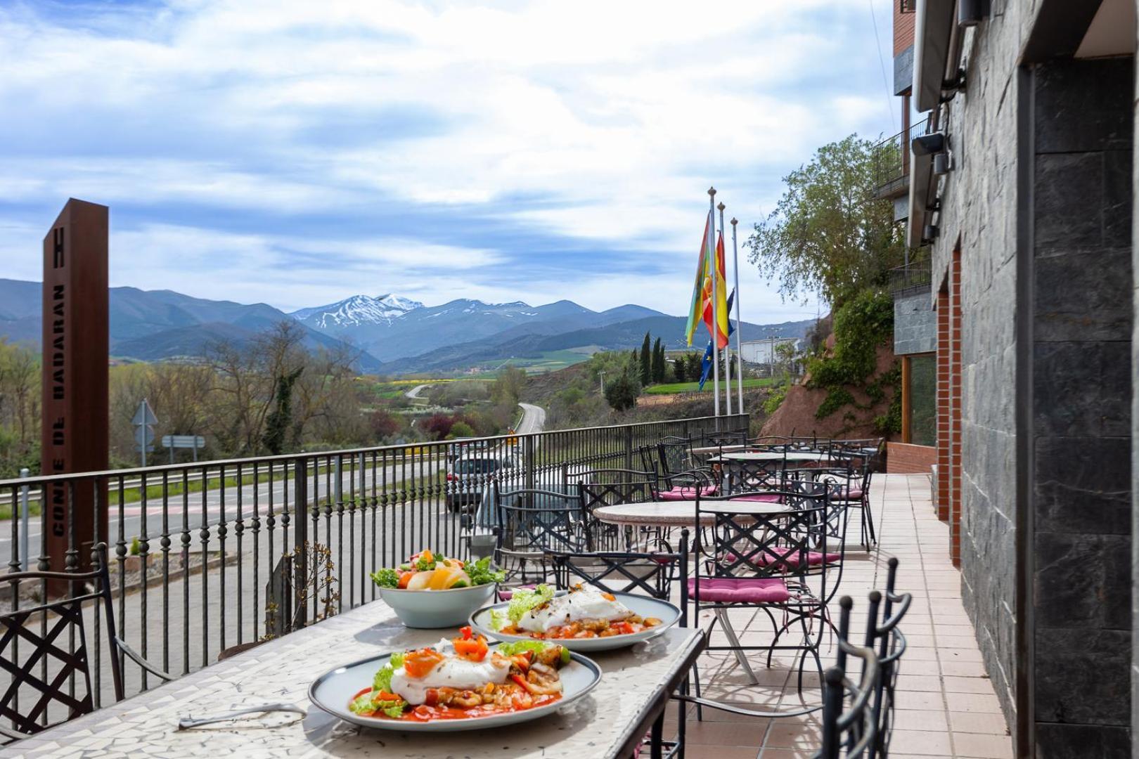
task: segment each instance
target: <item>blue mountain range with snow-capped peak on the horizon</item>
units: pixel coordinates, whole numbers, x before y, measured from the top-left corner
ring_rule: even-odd
[[[0,336],[39,343],[40,298],[39,282],[0,279]],[[394,294],[357,295],[285,313],[263,303],[116,287],[110,288],[109,306],[115,356],[144,361],[197,356],[211,343],[246,341],[277,322],[295,320],[304,329],[308,347],[347,344],[358,353],[362,371],[387,374],[446,371],[570,348],[632,348],[646,331],[661,336],[666,347],[679,348],[685,325],[682,316],[632,304],[600,312],[572,300],[531,306],[457,299],[425,306]],[[741,336],[745,340],[802,337],[811,323],[745,322]]]

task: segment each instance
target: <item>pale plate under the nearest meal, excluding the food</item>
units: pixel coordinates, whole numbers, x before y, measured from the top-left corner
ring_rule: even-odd
[[[494,650],[491,646],[491,651]],[[601,669],[580,653],[571,654],[568,665],[558,670],[562,677],[562,698],[533,709],[511,711],[490,717],[472,717],[469,719],[439,719],[428,723],[412,723],[383,717],[361,717],[349,709],[349,703],[357,693],[371,685],[376,671],[387,663],[391,653],[371,657],[361,661],[337,667],[325,673],[309,686],[309,700],[344,721],[375,727],[384,731],[404,733],[448,733],[453,731],[476,731],[487,727],[502,727],[515,723],[540,719],[562,707],[566,707],[592,691],[601,679]]]

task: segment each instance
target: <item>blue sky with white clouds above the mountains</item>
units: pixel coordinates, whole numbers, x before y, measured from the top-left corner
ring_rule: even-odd
[[[896,131],[892,2],[0,0],[0,277],[77,197],[115,286],[683,313],[710,184],[743,246],[818,146]]]

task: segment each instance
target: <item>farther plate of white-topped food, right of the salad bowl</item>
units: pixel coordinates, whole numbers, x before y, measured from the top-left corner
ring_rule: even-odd
[[[549,585],[515,591],[470,614],[470,626],[499,641],[556,641],[572,651],[607,651],[656,637],[680,619],[667,601],[577,585],[557,595]]]

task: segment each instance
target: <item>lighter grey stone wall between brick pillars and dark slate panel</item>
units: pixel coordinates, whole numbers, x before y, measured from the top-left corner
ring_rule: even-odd
[[[966,90],[941,116],[953,165],[940,180],[941,234],[931,247],[933,305],[954,247],[961,250],[961,503],[952,510],[960,514],[962,601],[1009,725],[1016,721],[1016,60],[1038,8],[994,0],[990,18],[966,33]]]

